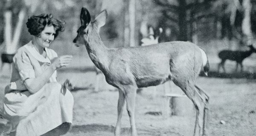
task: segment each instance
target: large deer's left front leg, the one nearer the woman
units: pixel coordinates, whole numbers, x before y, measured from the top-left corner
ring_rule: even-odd
[[[116,121],[116,129],[115,129],[115,136],[120,136],[120,126],[121,126],[121,119],[122,119],[122,111],[125,105],[125,95],[121,89],[119,89],[119,99],[117,104],[117,121]]]

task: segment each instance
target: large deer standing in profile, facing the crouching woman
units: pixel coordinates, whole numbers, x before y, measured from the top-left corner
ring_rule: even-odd
[[[99,29],[105,25],[107,11],[100,12],[93,21],[86,8],[81,8],[81,26],[73,40],[77,47],[85,45],[87,53],[108,84],[118,88],[115,136],[120,136],[122,112],[126,102],[131,135],[137,136],[135,98],[137,88],[155,86],[172,80],[192,100],[196,109],[194,136],[207,136],[209,127],[209,96],[195,85],[204,68],[209,71],[206,53],[191,42],[162,42],[155,45],[107,48]]]

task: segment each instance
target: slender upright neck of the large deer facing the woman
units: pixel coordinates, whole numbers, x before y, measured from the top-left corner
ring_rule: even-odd
[[[109,64],[108,48],[105,47],[96,31],[92,31],[90,34],[88,34],[88,37],[86,49],[89,57],[97,68],[105,71]]]

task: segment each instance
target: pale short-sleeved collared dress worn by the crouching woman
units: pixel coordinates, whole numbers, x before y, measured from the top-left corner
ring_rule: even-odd
[[[10,87],[10,84],[9,89],[5,90],[3,109],[4,116],[16,128],[16,136],[40,136],[64,122],[73,121],[73,96],[57,82],[56,71],[35,94],[30,93],[23,85],[25,79],[37,77],[57,57],[52,49],[45,48],[45,51],[46,58],[35,50],[30,41],[19,48],[13,58],[11,82],[20,80],[20,84],[14,87],[17,89]],[[25,89],[18,89],[24,87]]]

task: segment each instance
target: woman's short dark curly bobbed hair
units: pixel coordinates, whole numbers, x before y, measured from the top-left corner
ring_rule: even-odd
[[[27,28],[29,28],[29,33],[38,37],[44,30],[45,26],[53,26],[56,29],[56,34],[54,38],[58,36],[59,31],[64,31],[65,22],[57,20],[52,17],[52,14],[40,14],[38,16],[31,16],[26,23]]]

